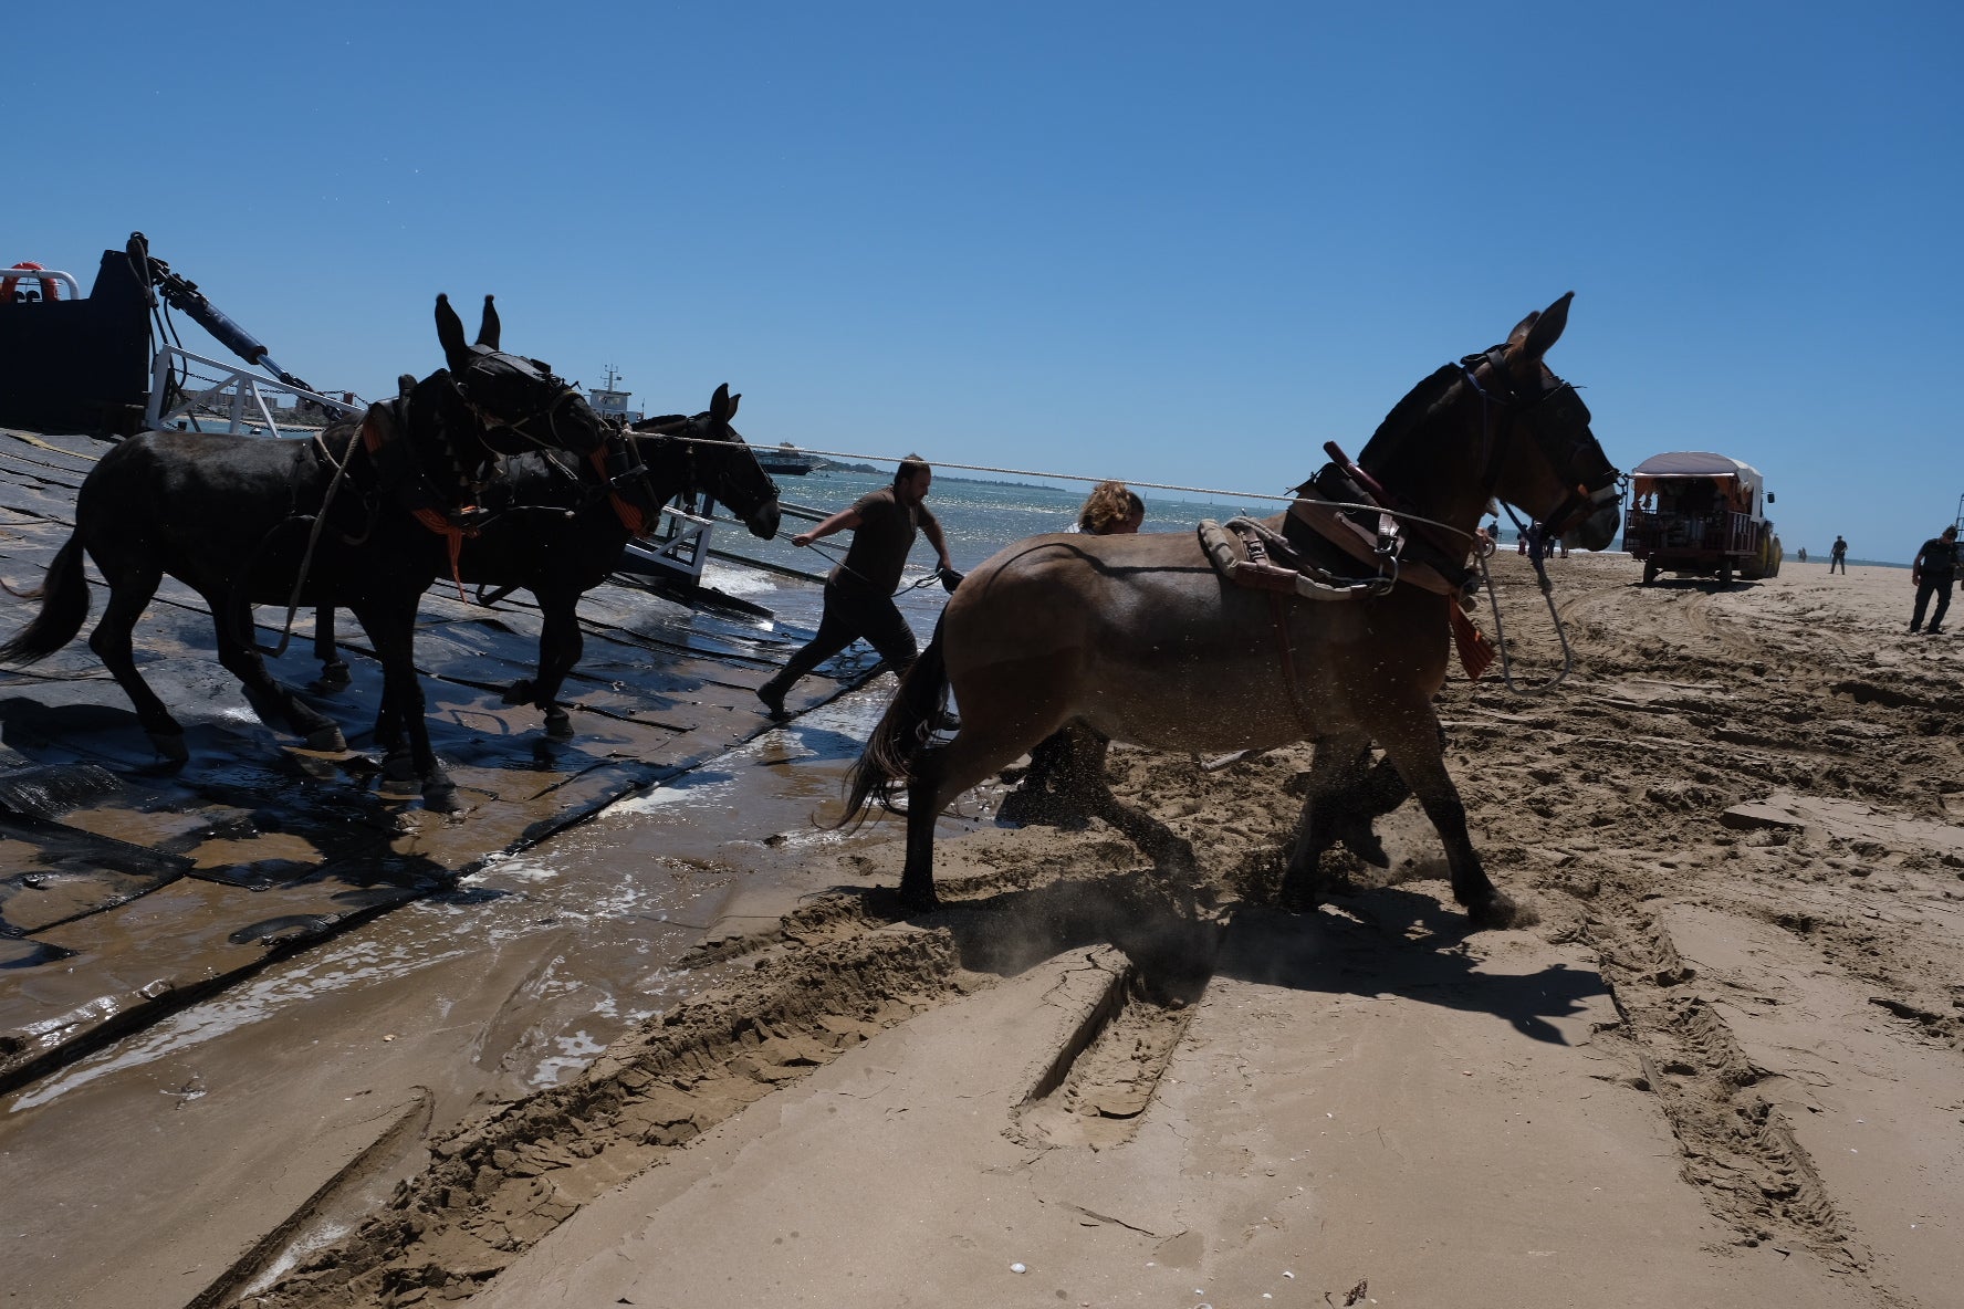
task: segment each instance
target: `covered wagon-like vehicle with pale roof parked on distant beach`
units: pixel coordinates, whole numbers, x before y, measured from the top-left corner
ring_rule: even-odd
[[[1760,469],[1728,455],[1679,449],[1652,455],[1630,471],[1622,546],[1658,573],[1758,581],[1779,575],[1779,534],[1766,506],[1773,493]]]

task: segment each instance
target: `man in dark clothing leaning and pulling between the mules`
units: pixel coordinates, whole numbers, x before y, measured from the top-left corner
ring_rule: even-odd
[[[764,701],[772,718],[784,716],[784,693],[799,677],[854,640],[864,638],[878,650],[896,677],[913,667],[921,648],[900,606],[894,604],[894,591],[900,587],[901,569],[907,567],[915,532],[923,532],[941,557],[943,585],[953,589],[949,579],[956,577],[941,524],[923,504],[933,481],[935,471],[919,455],[907,455],[894,471],[892,487],[862,495],[850,508],[791,538],[793,546],[809,546],[835,532],[852,532],[852,546],[825,579],[825,616],[819,618],[819,634],[791,655],[782,673],[756,689],[756,699]]]

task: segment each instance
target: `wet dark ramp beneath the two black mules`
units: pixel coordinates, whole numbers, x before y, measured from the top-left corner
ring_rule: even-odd
[[[0,428],[0,579],[39,585],[73,526],[75,493],[108,449],[84,436]],[[94,577],[94,614],[102,608]],[[0,636],[31,612],[0,597]],[[302,612],[275,677],[338,720],[354,750],[312,754],[251,712],[214,657],[210,614],[165,579],[137,626],[143,675],[187,728],[189,763],[155,756],[86,640],[0,669],[0,1089],[26,1085],[124,1032],[251,977],[269,960],[430,895],[489,860],[678,779],[772,728],[754,689],[803,630],[691,612],[609,583],[581,602],[585,657],[562,699],[573,736],[505,705],[528,677],[538,614],[442,581],[424,597],[416,665],[458,814],[377,793],[369,748],[381,677],[344,634],[352,681],[320,683]],[[283,612],[259,610],[259,640]],[[352,624],[346,624],[352,626]],[[862,683],[872,655],[799,683],[807,710]]]

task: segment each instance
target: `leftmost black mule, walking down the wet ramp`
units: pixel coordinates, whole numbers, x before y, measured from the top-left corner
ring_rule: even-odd
[[[88,648],[161,756],[187,758],[185,728],[137,671],[132,630],[165,573],[204,597],[218,657],[253,710],[316,750],[342,750],[340,728],[273,681],[251,644],[253,604],[342,604],[383,665],[381,716],[409,724],[409,754],[389,759],[391,777],[418,781],[428,807],[452,809],[456,787],[430,750],[410,648],[418,599],[450,571],[448,540],[432,526],[467,520],[462,510],[497,455],[589,457],[611,428],[544,363],[499,349],[489,296],[477,343],[444,296],[436,336],[448,371],[405,379],[393,402],[312,442],[145,432],[106,453],[77,495],[75,534],[49,565],[41,610],[0,646],[0,663],[31,663],[81,632],[86,550],[110,587]]]

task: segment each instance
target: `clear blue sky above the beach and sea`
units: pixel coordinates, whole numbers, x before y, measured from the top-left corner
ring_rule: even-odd
[[[31,6],[0,263],[132,230],[389,394],[438,290],[760,444],[1277,493],[1575,290],[1628,469],[1789,555],[1958,512],[1954,4]]]

